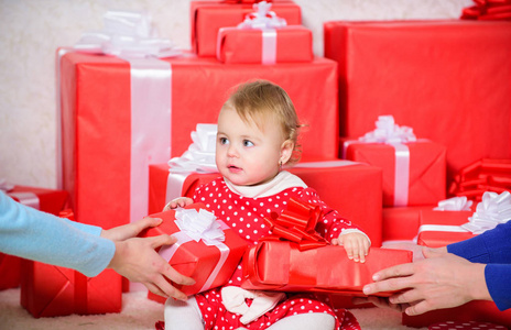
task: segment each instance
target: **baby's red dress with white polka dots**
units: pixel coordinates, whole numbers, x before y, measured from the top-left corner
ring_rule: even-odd
[[[290,198],[305,200],[322,208],[324,217],[317,224],[316,231],[328,241],[337,238],[345,229],[356,228],[350,221],[340,218],[339,213],[327,207],[317,193],[312,188],[292,187],[267,197],[248,198],[233,193],[226,182],[219,177],[203,185],[195,191],[194,201],[203,202],[218,218],[247,240],[250,245],[257,244],[259,239],[270,233],[264,224],[264,217],[272,211],[281,213]],[[241,283],[241,265],[232,275],[228,285],[239,286]],[[195,296],[203,314],[205,329],[267,329],[276,321],[293,315],[307,312],[325,312],[336,318],[335,329],[360,329],[355,317],[347,310],[336,310],[320,301],[313,294],[289,294],[273,310],[248,324],[240,322],[240,316],[226,310],[221,304],[220,289],[216,288]],[[250,304],[250,302],[248,302]]]

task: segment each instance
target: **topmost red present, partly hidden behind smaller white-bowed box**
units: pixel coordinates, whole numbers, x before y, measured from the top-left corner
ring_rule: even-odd
[[[216,55],[220,28],[236,28],[253,11],[253,3],[192,1],[192,48],[199,56]],[[290,25],[302,24],[302,12],[293,1],[272,1],[272,11]]]

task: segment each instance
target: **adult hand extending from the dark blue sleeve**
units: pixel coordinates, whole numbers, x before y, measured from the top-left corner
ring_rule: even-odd
[[[444,250],[424,248],[423,254],[425,258],[422,261],[376,273],[376,283],[366,285],[363,293],[396,292],[389,297],[390,307],[404,308],[410,316],[460,306],[475,299],[491,300],[485,280],[485,264],[470,263]]]

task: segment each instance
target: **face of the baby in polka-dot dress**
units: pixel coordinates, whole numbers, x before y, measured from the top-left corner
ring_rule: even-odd
[[[239,186],[269,182],[279,173],[283,142],[276,123],[268,121],[260,129],[252,120],[244,122],[235,109],[224,107],[218,117],[218,170]]]

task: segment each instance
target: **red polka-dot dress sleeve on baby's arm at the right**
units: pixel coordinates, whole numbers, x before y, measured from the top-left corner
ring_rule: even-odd
[[[302,199],[322,208],[323,217],[316,227],[316,231],[327,241],[330,242],[333,239],[337,239],[347,229],[360,230],[351,221],[344,219],[337,210],[328,207],[313,188],[305,188],[302,194]]]

